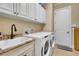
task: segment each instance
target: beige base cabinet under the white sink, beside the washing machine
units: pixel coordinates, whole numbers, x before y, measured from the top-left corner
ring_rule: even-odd
[[[8,52],[0,54],[0,56],[34,56],[35,55],[34,41],[28,42]]]

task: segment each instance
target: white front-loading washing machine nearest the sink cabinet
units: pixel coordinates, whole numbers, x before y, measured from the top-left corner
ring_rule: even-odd
[[[35,39],[35,56],[50,55],[50,34],[52,34],[52,32],[37,32],[25,35],[26,37]]]

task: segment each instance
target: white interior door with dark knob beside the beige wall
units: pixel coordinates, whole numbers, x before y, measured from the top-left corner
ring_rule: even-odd
[[[54,32],[56,44],[71,50],[71,6],[54,10]]]

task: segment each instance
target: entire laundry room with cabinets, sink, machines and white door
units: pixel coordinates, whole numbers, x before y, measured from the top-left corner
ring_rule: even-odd
[[[78,56],[79,3],[0,3],[0,56]]]

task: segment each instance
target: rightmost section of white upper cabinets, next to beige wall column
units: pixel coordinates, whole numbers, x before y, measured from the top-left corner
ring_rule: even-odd
[[[46,10],[39,4],[36,4],[36,19],[40,23],[46,23]]]

